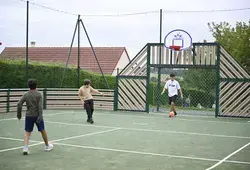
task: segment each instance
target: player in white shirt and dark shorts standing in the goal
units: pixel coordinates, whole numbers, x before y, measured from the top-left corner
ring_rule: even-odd
[[[177,115],[174,105],[178,96],[178,90],[180,91],[181,98],[183,98],[183,95],[180,84],[175,80],[174,74],[170,74],[170,80],[166,82],[161,94],[164,94],[166,89],[168,89],[169,105],[171,105],[170,111],[173,111],[174,114]]]

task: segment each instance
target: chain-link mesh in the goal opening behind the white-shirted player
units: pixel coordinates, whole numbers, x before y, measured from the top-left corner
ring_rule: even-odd
[[[152,97],[150,104],[153,111],[170,110],[168,90],[163,95],[161,93],[167,80],[170,79],[171,73],[174,73],[175,80],[179,82],[183,92],[183,98],[178,92],[175,103],[178,110],[188,114],[214,115],[216,106],[215,69],[151,68],[150,95]]]

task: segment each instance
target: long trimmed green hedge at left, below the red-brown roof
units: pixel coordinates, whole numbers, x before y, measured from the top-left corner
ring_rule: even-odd
[[[29,62],[29,77],[36,78],[40,88],[61,87],[65,65],[57,63]],[[69,66],[66,69],[64,88],[77,87],[77,69]],[[110,89],[115,87],[115,77],[105,75]],[[80,72],[80,85],[84,79],[90,79],[92,86],[98,89],[107,89],[107,85],[101,74],[91,73],[85,70]],[[26,88],[25,60],[0,60],[0,88]]]

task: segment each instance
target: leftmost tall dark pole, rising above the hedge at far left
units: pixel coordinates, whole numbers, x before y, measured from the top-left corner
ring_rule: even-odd
[[[27,14],[26,14],[26,82],[29,79],[29,1],[27,1]]]

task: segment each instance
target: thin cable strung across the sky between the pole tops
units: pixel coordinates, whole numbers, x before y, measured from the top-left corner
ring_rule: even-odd
[[[19,1],[27,2],[27,0],[19,0]],[[68,15],[74,15],[74,16],[81,15],[81,16],[85,16],[85,17],[122,17],[122,16],[146,15],[146,14],[159,13],[159,10],[155,10],[155,11],[136,12],[136,13],[121,13],[121,14],[77,14],[77,13],[67,12],[67,11],[56,9],[56,8],[40,5],[40,4],[37,4],[37,3],[32,2],[32,1],[30,2],[30,4],[47,9],[47,10],[55,11],[55,12],[60,12],[60,13],[68,14]],[[246,10],[250,10],[250,7],[235,8],[235,9],[190,10],[190,11],[163,10],[163,13],[214,13],[214,12],[233,12],[233,11],[246,11]]]

